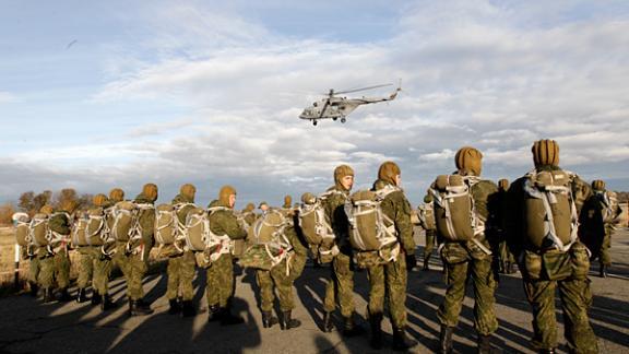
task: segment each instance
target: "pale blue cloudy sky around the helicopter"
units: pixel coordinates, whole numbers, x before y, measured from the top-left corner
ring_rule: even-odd
[[[512,180],[538,139],[629,190],[629,2],[357,3],[0,0],[0,202],[192,182],[199,203],[229,184],[238,208],[276,205],[340,164],[368,188],[391,160],[416,205],[461,146]],[[346,123],[298,119],[329,88],[400,80]]]

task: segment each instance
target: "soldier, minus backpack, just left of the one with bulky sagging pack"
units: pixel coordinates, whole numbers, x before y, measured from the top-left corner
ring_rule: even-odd
[[[235,203],[236,189],[224,186],[218,193],[218,200],[212,201],[207,206],[210,210],[210,229],[214,235],[226,235],[229,239],[247,237],[247,231],[242,228],[234,215]],[[212,211],[213,209],[215,211]],[[223,247],[221,244],[215,250],[219,256],[207,268],[205,294],[210,311],[209,321],[219,320],[223,326],[239,324],[245,320],[230,311],[235,286],[233,258],[228,251],[221,251]]]

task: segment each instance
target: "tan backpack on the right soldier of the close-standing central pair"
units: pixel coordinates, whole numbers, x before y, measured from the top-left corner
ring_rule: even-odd
[[[345,204],[351,224],[349,243],[359,251],[378,251],[397,243],[393,221],[382,212],[381,203],[397,187],[385,186],[377,191],[359,190]]]

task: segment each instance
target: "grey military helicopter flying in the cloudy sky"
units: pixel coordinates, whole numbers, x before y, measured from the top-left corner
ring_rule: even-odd
[[[397,93],[402,91],[402,84],[395,88],[395,91],[385,97],[365,97],[361,98],[347,98],[347,97],[339,97],[336,95],[359,92],[359,91],[367,91],[373,90],[378,87],[385,87],[391,86],[392,84],[382,84],[376,86],[368,86],[348,91],[341,91],[334,92],[333,88],[330,88],[330,92],[325,94],[328,97],[319,99],[312,103],[312,106],[307,107],[304,111],[299,115],[300,119],[308,119],[312,121],[313,126],[317,126],[317,121],[319,119],[332,119],[336,120],[341,118],[341,122],[344,123],[347,119],[347,115],[353,113],[358,106],[360,105],[368,105],[379,102],[388,102],[393,101],[397,96]]]

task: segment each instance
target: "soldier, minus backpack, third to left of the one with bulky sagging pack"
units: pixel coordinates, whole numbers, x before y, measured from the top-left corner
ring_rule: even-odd
[[[144,302],[142,279],[147,270],[146,260],[144,259],[144,241],[153,237],[155,210],[152,206],[155,200],[157,200],[157,186],[154,184],[144,185],[142,192],[133,200],[133,203],[140,209],[138,225],[140,226],[141,235],[138,238],[131,238],[129,241],[116,241],[114,261],[122,271],[127,282],[129,316],[153,314],[150,305]]]

